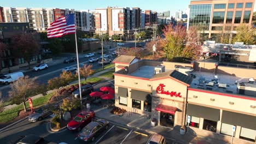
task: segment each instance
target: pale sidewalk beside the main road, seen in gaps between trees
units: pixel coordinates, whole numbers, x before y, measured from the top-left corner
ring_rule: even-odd
[[[89,76],[88,78],[90,78],[90,77],[98,77],[99,75],[101,75],[101,74],[103,74],[103,73],[106,73],[107,71],[110,71],[110,70],[113,70],[113,69],[114,69],[114,67],[109,68],[109,69],[105,69],[105,70],[102,70],[102,71],[99,71],[98,73],[96,73],[96,74],[94,74],[94,75],[92,75],[92,76]],[[100,76],[100,77],[101,77],[101,76]],[[101,78],[103,78],[103,77],[101,77]],[[84,80],[84,79],[81,79],[81,81],[82,81],[82,80]],[[109,80],[110,80],[110,79],[109,79]],[[73,81],[73,82],[69,83],[69,85],[72,85],[72,84],[74,84],[74,83],[78,83],[78,81]],[[48,91],[48,92],[46,92],[46,93],[49,94],[49,93],[52,93],[52,92],[53,92],[53,90],[50,90],[50,91]],[[43,97],[43,94],[34,95],[33,97],[31,97],[31,99],[34,100],[34,99],[37,99],[37,98],[40,98],[40,97]],[[16,105],[16,104],[13,104],[13,105],[4,106],[4,110],[12,109],[12,108],[15,107],[15,106],[17,106],[17,105]]]

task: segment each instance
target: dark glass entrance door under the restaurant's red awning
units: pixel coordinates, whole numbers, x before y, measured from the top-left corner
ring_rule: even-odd
[[[174,115],[172,115],[170,113],[161,112],[160,113],[160,125],[173,128]]]

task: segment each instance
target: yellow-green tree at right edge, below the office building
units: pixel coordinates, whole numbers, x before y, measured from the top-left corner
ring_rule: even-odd
[[[247,25],[246,23],[242,23],[241,25],[235,28],[236,36],[232,39],[232,42],[243,42],[247,45],[254,45],[256,43],[254,34],[256,33],[256,28]]]

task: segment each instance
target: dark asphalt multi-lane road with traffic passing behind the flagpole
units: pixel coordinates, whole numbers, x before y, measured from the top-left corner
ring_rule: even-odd
[[[114,51],[114,50],[112,50]],[[111,59],[113,61],[113,59],[115,58],[115,56],[111,55],[112,51],[108,51],[106,52],[106,55],[109,55],[109,59]],[[99,53],[95,53],[96,58],[100,58],[101,54]],[[71,57],[71,56],[69,56]],[[75,54],[74,54],[75,57]],[[86,64],[92,64],[92,69],[98,69],[101,68],[102,65],[98,64],[97,62],[94,63],[90,63],[88,62],[89,58],[79,58],[79,63],[86,63]],[[40,71],[29,71],[27,73],[24,73],[24,75],[28,75],[30,77],[38,77],[37,81],[40,83],[47,83],[48,80],[53,79],[54,77],[58,77],[61,74],[61,70],[65,67],[77,67],[77,62],[71,62],[71,63],[60,63],[60,64],[56,64],[53,66],[50,66],[48,69],[44,69],[44,70],[40,70]],[[5,85],[0,85],[0,89],[2,92],[2,97],[6,98],[8,96],[8,92],[9,92],[9,86],[5,86]]]

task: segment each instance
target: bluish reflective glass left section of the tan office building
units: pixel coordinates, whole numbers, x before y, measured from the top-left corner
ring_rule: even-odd
[[[212,4],[190,5],[189,26],[201,25],[208,31],[210,26]]]

